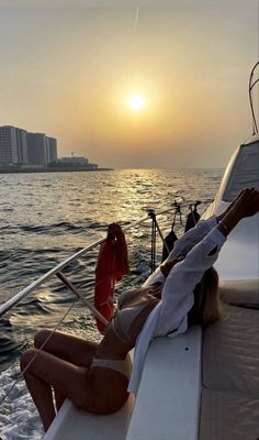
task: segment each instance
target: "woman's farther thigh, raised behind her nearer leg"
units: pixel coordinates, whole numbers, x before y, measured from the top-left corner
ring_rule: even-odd
[[[49,339],[48,339],[49,338]],[[34,345],[43,351],[54,354],[71,364],[89,367],[94,356],[98,343],[86,341],[85,339],[71,334],[56,331],[52,334],[50,330],[41,330],[35,334]]]

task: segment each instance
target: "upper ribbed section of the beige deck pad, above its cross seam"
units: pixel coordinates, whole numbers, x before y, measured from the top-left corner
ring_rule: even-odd
[[[259,314],[225,307],[226,320],[203,338],[203,386],[227,394],[258,397]]]

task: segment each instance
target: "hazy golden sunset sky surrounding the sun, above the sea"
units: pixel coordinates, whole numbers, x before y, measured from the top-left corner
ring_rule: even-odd
[[[222,167],[251,134],[257,0],[1,1],[0,125],[100,166]],[[138,92],[139,111],[127,106]]]

